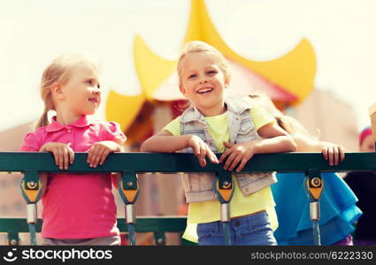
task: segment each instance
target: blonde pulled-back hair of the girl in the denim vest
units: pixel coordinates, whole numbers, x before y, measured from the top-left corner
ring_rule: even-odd
[[[177,66],[177,71],[179,74],[179,82],[181,84],[181,61],[184,57],[186,57],[190,53],[196,53],[196,52],[205,52],[209,53],[211,55],[214,55],[217,57],[219,68],[222,70],[222,72],[225,75],[225,79],[227,81],[230,80],[231,78],[231,72],[230,72],[230,64],[228,64],[228,61],[226,58],[219,52],[218,49],[215,49],[211,45],[209,45],[206,42],[199,42],[199,41],[194,41],[194,42],[188,42],[186,45],[183,47],[183,50],[181,51],[179,60],[178,60],[178,66]]]

